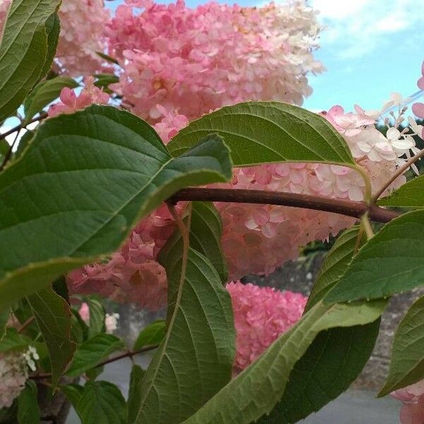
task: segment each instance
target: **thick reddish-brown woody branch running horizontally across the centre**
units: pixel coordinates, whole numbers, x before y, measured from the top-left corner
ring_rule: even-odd
[[[368,206],[365,201],[350,201],[328,199],[326,197],[310,196],[308,194],[267,192],[245,189],[204,189],[189,187],[179,190],[169,200],[178,201],[223,201],[248,204],[267,204],[278,206],[292,206],[294,208],[314,209],[339,213],[340,215],[360,218],[368,212],[369,218],[379,223],[388,223],[399,216],[399,213],[389,211],[379,206]]]

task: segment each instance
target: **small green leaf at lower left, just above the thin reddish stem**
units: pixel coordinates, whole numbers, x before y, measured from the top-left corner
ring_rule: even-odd
[[[112,334],[97,334],[81,343],[76,349],[73,362],[66,375],[78,377],[90,368],[99,365],[115,351],[125,347],[124,342]]]

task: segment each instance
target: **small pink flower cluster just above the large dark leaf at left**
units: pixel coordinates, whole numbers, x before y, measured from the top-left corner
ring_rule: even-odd
[[[49,117],[57,117],[59,114],[71,114],[77,110],[84,109],[92,105],[106,105],[110,100],[110,95],[94,85],[94,78],[87,76],[84,78],[85,87],[79,95],[74,90],[65,87],[60,93],[60,102],[51,105],[48,110]]]

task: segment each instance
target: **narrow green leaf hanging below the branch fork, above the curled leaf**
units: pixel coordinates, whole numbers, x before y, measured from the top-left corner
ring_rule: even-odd
[[[359,225],[355,225],[337,237],[334,246],[331,247],[330,252],[322,263],[321,269],[319,269],[317,280],[312,287],[305,311],[310,310],[340,280],[351,262],[358,235]],[[365,241],[366,237],[361,237],[360,245]]]

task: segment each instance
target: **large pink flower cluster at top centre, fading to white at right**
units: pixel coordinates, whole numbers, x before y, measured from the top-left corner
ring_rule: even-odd
[[[301,104],[312,92],[307,74],[323,70],[312,55],[319,31],[303,1],[261,8],[127,1],[107,23],[110,54],[123,69],[112,87],[152,124],[242,100]]]

